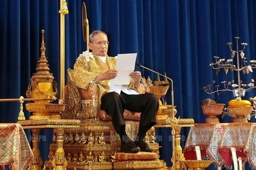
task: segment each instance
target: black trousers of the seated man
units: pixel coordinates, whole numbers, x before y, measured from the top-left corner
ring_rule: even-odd
[[[131,112],[141,112],[139,128],[156,124],[156,112],[159,104],[154,94],[127,95],[121,91],[107,92],[101,97],[100,108],[112,118],[116,132],[119,134],[120,126],[124,123],[124,109]]]

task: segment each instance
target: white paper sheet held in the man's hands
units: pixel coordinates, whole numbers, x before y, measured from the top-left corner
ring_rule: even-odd
[[[137,53],[118,54],[116,61],[117,77],[110,80],[111,85],[130,84],[129,74],[134,71]]]

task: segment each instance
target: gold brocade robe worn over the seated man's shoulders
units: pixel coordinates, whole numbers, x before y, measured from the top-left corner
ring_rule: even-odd
[[[106,64],[102,62],[102,60],[94,54],[89,55],[87,53],[86,56],[80,55],[77,58],[77,61],[74,65],[74,69],[68,69],[68,75],[72,82],[78,88],[87,89],[89,83],[92,82],[99,74],[102,74],[109,69],[115,69],[116,66],[116,58],[115,57],[106,57]],[[103,80],[97,83],[99,89],[99,99],[101,96],[109,91],[109,80]],[[131,83],[129,86],[126,86],[128,89],[134,89],[134,80],[131,79]]]

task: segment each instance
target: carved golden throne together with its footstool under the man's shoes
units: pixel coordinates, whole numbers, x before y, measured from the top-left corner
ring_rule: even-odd
[[[142,84],[135,84],[139,93],[144,93]],[[119,153],[121,142],[111,123],[111,117],[99,108],[98,87],[95,83],[80,89],[68,80],[65,86],[66,109],[62,118],[79,119],[80,128],[66,129],[63,149],[68,160],[67,169],[165,169],[159,160],[158,143],[155,142],[155,129],[151,128],[145,137],[153,153]],[[138,129],[140,113],[124,112],[126,133],[134,139]],[[53,137],[54,139],[54,137]],[[57,148],[55,142],[50,146],[52,159]],[[50,168],[47,168],[50,169]]]

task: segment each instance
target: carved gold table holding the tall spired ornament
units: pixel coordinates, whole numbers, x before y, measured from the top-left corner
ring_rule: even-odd
[[[65,158],[65,153],[63,150],[63,134],[64,129],[68,128],[79,128],[80,121],[79,120],[25,120],[18,121],[21,124],[23,129],[31,129],[33,139],[33,165],[31,169],[42,169],[43,165],[42,158],[40,155],[40,151],[38,149],[39,144],[39,132],[41,129],[51,128],[56,134],[56,143],[57,149],[53,157],[51,157],[51,164],[55,169],[66,169],[67,160]]]

